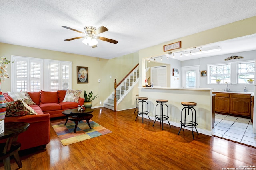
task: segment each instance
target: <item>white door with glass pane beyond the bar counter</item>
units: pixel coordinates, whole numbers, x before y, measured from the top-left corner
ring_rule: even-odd
[[[182,67],[182,87],[199,88],[200,66]]]

